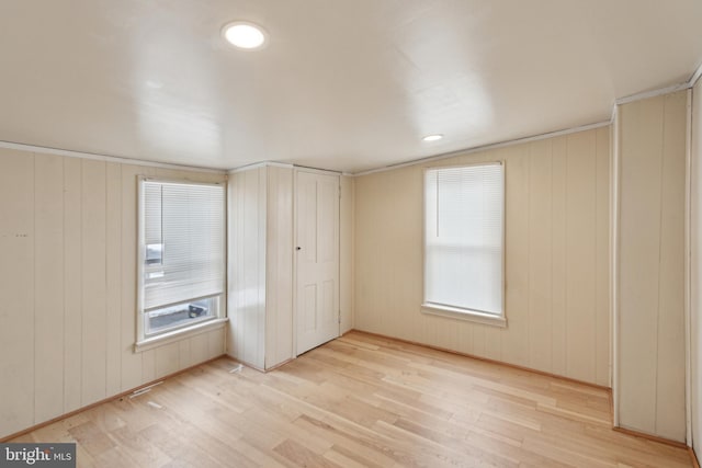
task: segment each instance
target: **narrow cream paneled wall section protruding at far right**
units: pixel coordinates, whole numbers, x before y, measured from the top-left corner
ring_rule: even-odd
[[[687,91],[618,109],[619,421],[684,442]]]

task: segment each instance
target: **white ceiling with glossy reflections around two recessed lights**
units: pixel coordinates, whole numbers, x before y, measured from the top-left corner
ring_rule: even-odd
[[[687,81],[701,27],[700,0],[2,0],[0,140],[358,172],[608,121]]]

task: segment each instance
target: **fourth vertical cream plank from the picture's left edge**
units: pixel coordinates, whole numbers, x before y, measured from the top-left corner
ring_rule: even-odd
[[[106,396],[105,163],[82,161],[82,388],[81,404]]]

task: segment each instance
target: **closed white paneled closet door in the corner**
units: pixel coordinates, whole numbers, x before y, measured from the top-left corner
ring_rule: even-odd
[[[297,354],[339,336],[339,176],[295,172]]]

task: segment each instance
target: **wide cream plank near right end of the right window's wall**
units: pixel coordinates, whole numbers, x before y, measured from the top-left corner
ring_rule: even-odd
[[[568,136],[566,212],[566,372],[596,381],[596,132]]]

